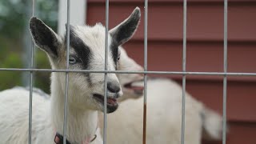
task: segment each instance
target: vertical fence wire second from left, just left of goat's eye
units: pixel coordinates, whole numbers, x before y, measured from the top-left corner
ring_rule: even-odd
[[[66,6],[66,70],[69,69],[70,59],[70,0],[67,0]],[[68,87],[69,87],[69,72],[66,72],[65,83],[65,105],[64,105],[64,123],[63,123],[63,143],[66,144],[66,118],[67,118],[67,101],[68,101]]]

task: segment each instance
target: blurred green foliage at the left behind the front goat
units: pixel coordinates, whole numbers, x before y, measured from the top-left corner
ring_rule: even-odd
[[[37,0],[35,2],[35,15],[41,18],[53,30],[57,30],[58,1]],[[0,67],[25,68],[23,62],[25,46],[24,33],[28,30],[29,18],[32,14],[32,1],[28,0],[2,0],[0,1]],[[30,38],[30,36],[27,36]],[[29,46],[29,45],[27,45]],[[35,48],[37,49],[37,48]],[[46,54],[35,50],[35,67],[50,68]],[[13,86],[22,86],[22,73],[18,71],[0,71],[0,90]],[[50,73],[34,73],[34,86],[49,93]]]

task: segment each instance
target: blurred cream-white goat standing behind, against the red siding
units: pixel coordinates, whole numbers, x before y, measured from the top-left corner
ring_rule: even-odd
[[[142,70],[125,50],[121,50],[119,70]],[[142,80],[142,75],[118,74],[118,78],[124,96],[118,99],[122,101],[118,110],[108,115],[107,142],[142,143],[143,82],[137,82]],[[147,85],[146,143],[181,143],[182,87],[167,78],[149,79]],[[211,140],[221,138],[222,117],[188,93],[185,114],[185,143],[199,144],[206,135]],[[99,118],[102,124],[102,114]]]

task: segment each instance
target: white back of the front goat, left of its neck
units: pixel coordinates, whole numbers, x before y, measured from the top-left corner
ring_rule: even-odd
[[[0,92],[0,139],[1,144],[28,143],[30,93],[26,89],[10,89]],[[47,112],[50,101],[33,93],[32,142],[47,141],[54,130],[50,130]],[[41,134],[40,134],[41,133]],[[38,135],[42,135],[41,137]],[[45,137],[44,137],[45,136]],[[42,141],[43,140],[43,141]]]

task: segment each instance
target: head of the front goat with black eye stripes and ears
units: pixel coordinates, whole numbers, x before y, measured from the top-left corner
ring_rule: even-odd
[[[118,69],[120,50],[118,46],[127,42],[138,27],[140,10],[137,7],[129,18],[109,31],[108,70]],[[105,69],[105,27],[70,26],[70,70]],[[60,38],[38,18],[30,19],[30,32],[35,44],[46,52],[53,69],[66,69],[66,37]],[[65,73],[57,73],[58,84],[65,90]],[[104,74],[70,73],[69,103],[78,108],[103,110]],[[122,88],[116,74],[107,74],[107,112],[118,108],[116,98]]]

